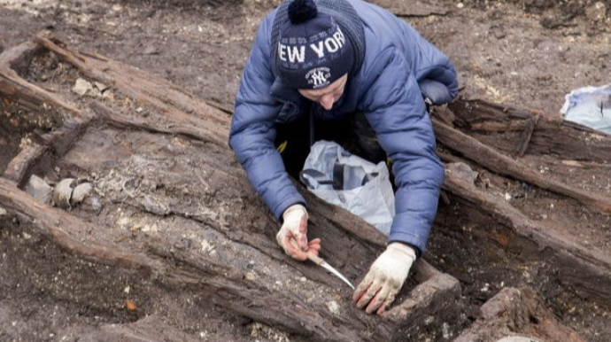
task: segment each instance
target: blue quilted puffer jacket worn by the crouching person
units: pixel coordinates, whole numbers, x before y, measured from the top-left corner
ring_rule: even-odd
[[[456,97],[456,72],[443,53],[403,20],[374,4],[347,1],[362,21],[365,55],[333,109],[319,108],[314,112],[321,119],[365,113],[393,161],[398,187],[389,242],[413,245],[420,256],[437,214],[444,179],[422,94],[437,97],[433,98],[437,103]],[[306,201],[285,172],[275,149],[275,122],[305,114],[301,108],[307,100],[296,89],[283,86],[271,66],[270,31],[276,12],[260,24],[244,68],[229,144],[259,196],[281,220],[287,207]]]

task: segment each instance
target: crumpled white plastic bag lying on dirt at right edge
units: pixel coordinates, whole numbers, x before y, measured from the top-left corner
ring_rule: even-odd
[[[565,120],[611,134],[611,84],[575,89],[565,98],[561,109]]]

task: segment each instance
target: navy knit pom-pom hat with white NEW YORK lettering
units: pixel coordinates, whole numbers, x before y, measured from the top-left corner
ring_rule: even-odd
[[[350,72],[352,44],[336,20],[313,0],[293,0],[280,27],[278,73],[295,89],[321,89]]]

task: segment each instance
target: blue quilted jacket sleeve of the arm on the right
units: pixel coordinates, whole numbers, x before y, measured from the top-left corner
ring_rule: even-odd
[[[365,78],[371,83],[364,94],[364,110],[393,162],[398,188],[389,241],[413,245],[420,256],[426,249],[444,180],[429,115],[414,74],[395,48],[382,51]]]

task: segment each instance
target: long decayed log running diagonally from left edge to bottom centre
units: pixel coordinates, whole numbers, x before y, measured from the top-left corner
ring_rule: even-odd
[[[373,338],[360,336],[356,327],[329,325],[331,319],[308,309],[309,306],[302,299],[270,292],[249,281],[244,274],[202,255],[167,252],[167,246],[161,243],[159,246],[148,246],[153,255],[159,256],[153,259],[151,255],[120,248],[120,244],[116,242],[101,242],[98,238],[88,238],[89,231],[100,231],[104,228],[91,222],[83,222],[62,210],[43,206],[1,177],[0,203],[6,209],[35,221],[41,232],[67,253],[97,263],[141,268],[144,273],[153,274],[174,288],[199,286],[210,296],[213,303],[258,322],[281,326],[285,330],[310,336],[313,340],[382,341],[388,340],[390,336],[385,324],[377,326],[380,328],[377,332],[379,335]],[[105,230],[112,239],[112,231]]]

